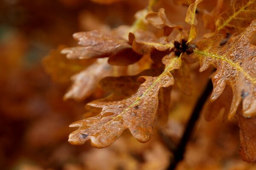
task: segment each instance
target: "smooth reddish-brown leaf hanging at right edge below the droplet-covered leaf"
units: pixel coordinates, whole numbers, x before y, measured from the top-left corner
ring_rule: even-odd
[[[256,161],[256,117],[245,118],[241,113],[241,107],[239,107],[236,119],[240,127],[241,147],[239,154],[244,161],[249,163]]]

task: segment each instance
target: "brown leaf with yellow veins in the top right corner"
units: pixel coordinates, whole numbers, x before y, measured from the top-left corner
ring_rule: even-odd
[[[217,33],[241,33],[256,19],[256,0],[233,0],[216,21]]]

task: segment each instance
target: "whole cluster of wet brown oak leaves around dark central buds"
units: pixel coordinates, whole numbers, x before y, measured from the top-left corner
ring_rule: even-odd
[[[70,61],[89,59],[93,63],[71,77],[73,85],[64,99],[81,101],[96,93],[97,84],[111,95],[87,104],[93,116],[70,125],[79,127],[70,133],[71,144],[90,140],[94,147],[108,147],[125,129],[138,141],[148,142],[156,117],[160,125],[168,119],[172,86],[177,84],[184,94],[192,94],[191,75],[197,71],[192,65],[199,63],[200,72],[210,65],[216,69],[206,76],[212,75],[213,90],[205,118],[214,119],[223,108],[224,120],[235,116],[241,158],[256,160],[256,46],[250,43],[256,34],[256,0],[232,0],[226,10],[223,0],[218,0],[211,12],[198,9],[202,1],[195,0],[187,9],[189,33],[183,25],[171,23],[163,8],[152,11],[156,2],[151,0],[137,12],[132,26],[73,34],[80,46],[64,48],[61,53]],[[200,37],[197,12],[210,30],[202,31]],[[46,67],[50,60],[44,59]],[[65,63],[67,69],[78,71],[70,67],[69,60]]]

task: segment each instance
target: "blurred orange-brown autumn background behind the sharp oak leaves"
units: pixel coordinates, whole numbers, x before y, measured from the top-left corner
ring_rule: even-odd
[[[146,144],[137,142],[129,131],[103,149],[91,147],[90,142],[81,146],[69,144],[67,138],[74,129],[68,125],[82,118],[87,102],[103,94],[95,93],[83,102],[64,102],[63,96],[71,85],[70,76],[77,71],[65,74],[65,65],[57,64],[59,70],[53,71],[52,79],[42,65],[45,56],[58,56],[58,51],[52,50],[59,45],[76,45],[73,33],[131,25],[134,14],[147,3],[146,0],[0,0],[0,170],[165,170],[168,167],[171,153],[157,132]],[[171,21],[184,23],[187,6],[174,8],[171,0],[163,1],[161,6],[169,9]],[[205,7],[211,9],[210,6],[208,3]],[[181,10],[181,15],[170,15],[172,10]],[[85,67],[91,62],[84,63]],[[50,70],[54,70],[55,66],[52,67]],[[195,96],[180,98],[186,103]],[[184,105],[176,107],[184,110]],[[166,127],[166,134],[176,141],[186,117],[182,119],[183,122],[171,119]],[[236,122],[227,122],[222,127],[218,126],[220,122],[221,119],[216,119],[205,123],[201,119],[186,159],[178,167],[180,170],[222,169],[224,165],[230,170],[253,168],[236,154],[239,148]]]

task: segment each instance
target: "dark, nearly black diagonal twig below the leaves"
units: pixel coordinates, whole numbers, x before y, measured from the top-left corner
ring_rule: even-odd
[[[192,112],[192,115],[187,122],[186,129],[183,133],[182,138],[180,139],[179,144],[177,145],[176,150],[173,152],[173,157],[171,158],[171,163],[168,167],[168,170],[174,170],[177,164],[183,160],[186,145],[189,142],[190,137],[192,136],[192,132],[195,128],[196,122],[199,118],[200,112],[204,106],[205,101],[207,100],[207,97],[212,91],[212,81],[209,80],[207,83],[206,88],[204,89],[204,92],[201,94],[201,96],[198,98],[198,101],[195,105],[195,108]]]

